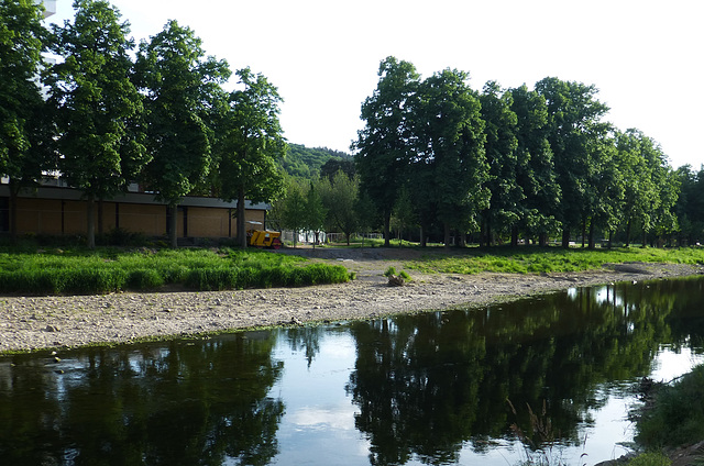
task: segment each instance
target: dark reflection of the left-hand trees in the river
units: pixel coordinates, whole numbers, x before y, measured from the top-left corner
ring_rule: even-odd
[[[274,343],[261,332],[57,364],[14,356],[0,369],[1,463],[266,465],[284,413],[267,397],[282,370]]]

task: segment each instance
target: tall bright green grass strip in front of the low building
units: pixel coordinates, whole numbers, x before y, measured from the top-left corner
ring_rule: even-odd
[[[117,248],[0,249],[0,292],[105,293],[177,286],[194,290],[343,282],[342,266],[266,252]]]

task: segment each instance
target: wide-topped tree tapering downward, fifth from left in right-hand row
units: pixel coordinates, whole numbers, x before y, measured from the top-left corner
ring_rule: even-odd
[[[594,199],[592,179],[598,126],[608,107],[596,99],[598,90],[575,81],[544,78],[536,84],[548,106],[548,141],[554,155],[554,168],[562,192],[558,219],[562,223],[562,246],[569,247],[571,231],[584,224]]]

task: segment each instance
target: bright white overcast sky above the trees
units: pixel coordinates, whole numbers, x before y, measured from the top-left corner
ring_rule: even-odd
[[[72,0],[51,22],[73,21]],[[148,38],[169,19],[208,55],[278,87],[290,143],[349,152],[382,59],[529,88],[548,76],[595,85],[620,130],[660,143],[673,167],[704,164],[702,0],[112,0]]]

